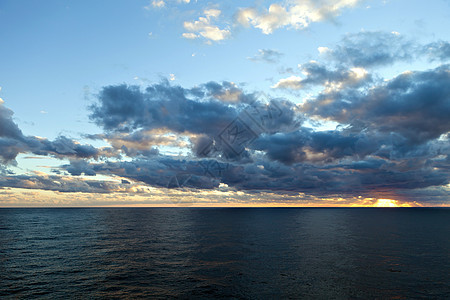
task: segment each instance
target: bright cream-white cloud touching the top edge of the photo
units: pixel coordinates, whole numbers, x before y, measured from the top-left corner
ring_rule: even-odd
[[[264,34],[271,34],[282,27],[303,29],[314,22],[332,18],[340,14],[343,8],[352,7],[361,0],[293,0],[286,5],[272,4],[269,9],[258,11],[244,8],[238,12],[237,21],[246,26],[261,29]]]

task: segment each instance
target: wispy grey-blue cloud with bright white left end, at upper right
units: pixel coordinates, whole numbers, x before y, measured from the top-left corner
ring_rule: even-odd
[[[324,94],[350,87],[373,88],[375,81],[382,79],[373,73],[376,68],[413,60],[445,62],[450,58],[449,49],[445,41],[419,44],[398,32],[362,31],[347,34],[332,48],[318,48],[321,62],[312,60],[299,65],[304,76],[291,75],[279,79],[272,88],[304,90],[322,86]]]

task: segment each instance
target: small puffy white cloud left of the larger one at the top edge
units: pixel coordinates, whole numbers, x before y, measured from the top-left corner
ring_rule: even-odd
[[[218,9],[204,10],[205,17],[200,17],[197,21],[184,22],[183,27],[188,32],[182,34],[187,39],[205,38],[208,42],[218,42],[230,37],[229,29],[220,29],[212,24],[213,19],[217,19],[221,11]]]

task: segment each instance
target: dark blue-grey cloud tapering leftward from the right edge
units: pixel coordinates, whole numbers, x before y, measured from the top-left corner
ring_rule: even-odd
[[[342,124],[359,123],[385,133],[398,133],[411,143],[439,138],[450,130],[448,65],[408,72],[368,90],[322,93],[302,109],[311,116]]]

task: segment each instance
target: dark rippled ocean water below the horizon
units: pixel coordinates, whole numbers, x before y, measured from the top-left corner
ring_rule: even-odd
[[[450,298],[450,209],[0,209],[0,298]]]

